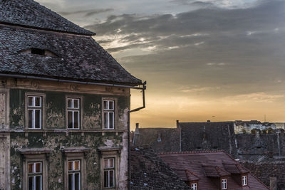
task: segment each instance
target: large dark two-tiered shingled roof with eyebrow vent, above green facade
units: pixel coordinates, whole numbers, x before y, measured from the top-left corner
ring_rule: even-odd
[[[30,8],[26,9],[27,6]],[[23,21],[24,25],[0,24],[0,73],[84,82],[141,84],[141,80],[130,75],[91,36],[70,34],[88,32],[53,11],[31,0],[0,0],[0,8],[0,21]],[[43,30],[26,27],[30,25]],[[46,31],[46,28],[59,32]],[[28,53],[31,49],[47,51],[53,56]]]

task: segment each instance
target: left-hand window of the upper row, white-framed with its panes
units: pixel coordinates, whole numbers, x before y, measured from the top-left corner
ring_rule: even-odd
[[[28,96],[28,129],[41,129],[42,97]]]

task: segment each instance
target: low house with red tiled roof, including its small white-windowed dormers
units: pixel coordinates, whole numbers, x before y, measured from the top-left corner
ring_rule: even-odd
[[[193,190],[269,189],[223,151],[158,154]]]

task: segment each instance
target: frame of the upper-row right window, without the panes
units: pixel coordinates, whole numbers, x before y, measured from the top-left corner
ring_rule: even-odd
[[[105,107],[105,102],[107,103],[107,107]],[[113,109],[110,109],[110,102],[113,102]],[[103,110],[103,115],[102,115],[102,125],[104,130],[114,130],[115,129],[115,110],[116,110],[116,100],[114,99],[103,99],[102,100],[102,110]],[[105,113],[108,115],[107,118],[105,118]],[[113,127],[110,126],[110,113],[113,113],[113,117],[111,120],[113,120]],[[105,126],[105,119],[107,119],[106,126]]]

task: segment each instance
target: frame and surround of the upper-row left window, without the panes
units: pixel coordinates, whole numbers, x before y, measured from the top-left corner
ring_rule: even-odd
[[[28,99],[32,97],[32,103],[29,105]],[[36,105],[36,97],[40,98],[40,105]],[[42,130],[45,125],[46,114],[46,95],[43,93],[25,93],[25,129],[26,130]],[[39,110],[39,128],[36,128],[36,111]],[[31,127],[29,126],[29,112],[31,111]]]

